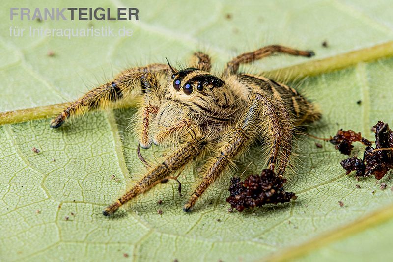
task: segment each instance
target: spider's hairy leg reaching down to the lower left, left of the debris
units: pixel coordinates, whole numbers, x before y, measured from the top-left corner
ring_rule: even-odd
[[[120,206],[136,196],[147,192],[155,184],[170,176],[170,174],[183,168],[193,159],[198,157],[207,144],[203,137],[185,143],[179,150],[170,155],[162,164],[147,173],[134,187],[121,196],[116,202],[107,207],[102,213],[105,216],[113,214]]]

